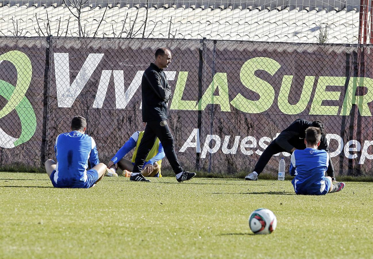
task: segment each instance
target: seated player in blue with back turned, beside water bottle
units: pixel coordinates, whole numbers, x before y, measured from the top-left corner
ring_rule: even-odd
[[[320,138],[319,128],[308,127],[304,139],[306,148],[297,149],[291,154],[290,171],[295,173],[292,184],[296,194],[325,195],[328,192],[339,192],[345,186],[343,182],[332,184],[332,178],[325,177],[329,153],[317,149]]]

